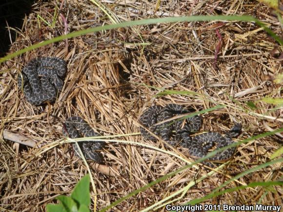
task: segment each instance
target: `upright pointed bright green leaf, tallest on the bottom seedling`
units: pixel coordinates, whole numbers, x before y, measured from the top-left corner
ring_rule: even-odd
[[[89,181],[89,174],[86,174],[81,178],[71,194],[71,197],[80,204],[80,207],[81,205],[86,207],[90,205]]]

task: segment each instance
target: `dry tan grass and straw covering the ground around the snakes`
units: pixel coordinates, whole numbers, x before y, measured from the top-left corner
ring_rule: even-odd
[[[64,34],[59,15],[55,26],[48,27],[37,15],[52,22],[54,4],[38,1],[24,20],[18,39],[10,52],[42,40]],[[272,25],[279,36],[282,28],[272,11],[257,1],[227,0],[198,2],[103,0],[116,21],[180,15],[253,15]],[[60,5],[59,5],[60,6]],[[67,18],[68,32],[112,23],[100,8],[88,0],[64,2],[61,14]],[[223,45],[213,68],[214,53],[222,35]],[[1,64],[0,76],[0,209],[12,211],[44,211],[47,203],[56,203],[60,194],[69,194],[87,173],[83,162],[74,155],[71,145],[60,145],[47,152],[44,145],[62,138],[62,123],[69,116],[82,116],[103,135],[139,132],[138,118],[152,104],[178,103],[197,111],[224,104],[222,110],[204,114],[203,131],[225,132],[233,122],[242,122],[240,139],[282,127],[282,109],[261,101],[264,96],[281,97],[282,87],[273,82],[282,73],[282,59],[270,51],[276,44],[263,29],[248,22],[182,22],[136,26],[103,31],[61,41],[30,51]],[[282,53],[276,47],[272,53]],[[65,85],[56,103],[31,106],[17,86],[17,77],[32,58],[57,56],[67,61]],[[223,56],[223,57],[222,57]],[[155,96],[159,89],[194,91],[193,95]],[[202,98],[205,95],[205,98]],[[246,101],[256,103],[252,111]],[[36,140],[40,149],[29,148],[3,139],[3,130]],[[145,141],[140,135],[119,139],[146,143],[163,148],[161,143]],[[202,197],[232,176],[269,160],[282,145],[282,137],[273,135],[250,141],[238,147],[234,160],[220,173],[207,177],[188,190],[176,205]],[[171,149],[168,149],[171,150]],[[185,156],[185,150],[175,152]],[[170,154],[139,146],[109,143],[105,148],[106,165],[115,168],[115,176],[92,170],[96,184],[97,209],[154,181],[165,173],[186,165]],[[35,156],[39,154],[39,156]],[[187,157],[187,159],[192,159]],[[245,175],[225,188],[254,181],[280,180],[282,164]],[[194,167],[123,201],[115,211],[138,211],[179,191],[192,179],[205,175]],[[281,178],[282,179],[282,178]],[[279,187],[268,191],[262,187],[226,193],[205,203],[229,205],[282,205]],[[92,192],[92,195],[94,193]],[[93,197],[93,196],[92,196]],[[92,202],[94,208],[94,202]]]

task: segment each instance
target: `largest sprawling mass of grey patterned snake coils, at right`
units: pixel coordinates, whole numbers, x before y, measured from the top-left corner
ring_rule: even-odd
[[[149,140],[156,140],[156,137],[152,135],[160,135],[162,140],[166,141],[172,146],[176,146],[178,143],[182,147],[188,148],[188,153],[194,157],[204,157],[207,155],[208,150],[216,143],[216,149],[220,149],[233,143],[231,138],[238,136],[241,133],[242,125],[237,123],[232,129],[227,132],[224,136],[216,132],[204,133],[197,135],[194,138],[190,136],[192,131],[199,131],[202,126],[201,116],[192,116],[186,118],[186,124],[183,125],[183,120],[177,121],[164,121],[172,118],[176,115],[188,113],[181,105],[168,104],[165,107],[151,106],[144,111],[140,117],[140,122],[143,127],[140,128],[141,134],[144,138]],[[157,124],[162,122],[161,124]],[[173,122],[173,124],[172,124]],[[149,131],[147,131],[147,128]],[[171,139],[172,131],[176,130],[175,138]],[[236,150],[236,147],[228,148],[214,156],[210,157],[209,160],[220,161],[228,160],[232,157]],[[213,167],[214,165],[210,162],[203,162],[205,165]]]

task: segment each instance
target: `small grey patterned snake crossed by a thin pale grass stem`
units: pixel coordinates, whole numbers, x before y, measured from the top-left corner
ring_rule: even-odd
[[[73,116],[66,119],[64,127],[62,128],[62,133],[65,136],[71,138],[100,136],[99,133],[96,133],[89,124],[79,116]],[[93,160],[97,163],[102,162],[101,153],[98,151],[102,150],[104,142],[95,142],[95,141],[82,141],[78,142],[81,152],[86,160]],[[76,143],[73,143],[73,147],[78,156],[79,149]]]

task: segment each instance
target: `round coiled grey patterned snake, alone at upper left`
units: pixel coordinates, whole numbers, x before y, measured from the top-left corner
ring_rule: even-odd
[[[18,86],[23,82],[23,93],[28,102],[40,105],[54,102],[62,90],[62,78],[66,74],[66,62],[61,58],[36,58],[31,60],[18,77]]]

